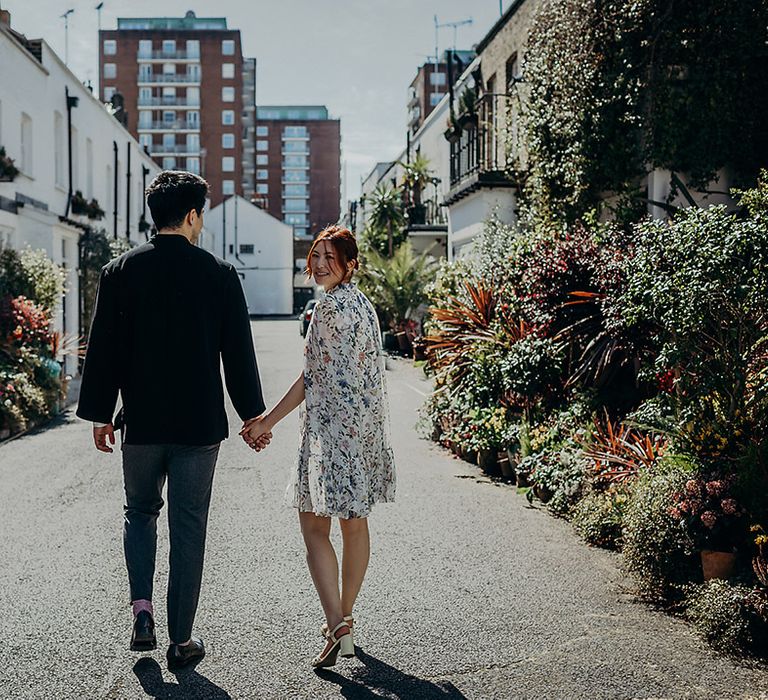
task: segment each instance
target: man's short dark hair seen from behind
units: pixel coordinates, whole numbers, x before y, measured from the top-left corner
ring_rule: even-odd
[[[163,170],[147,187],[147,204],[158,231],[178,228],[194,209],[203,211],[208,183],[199,175],[182,170]]]

